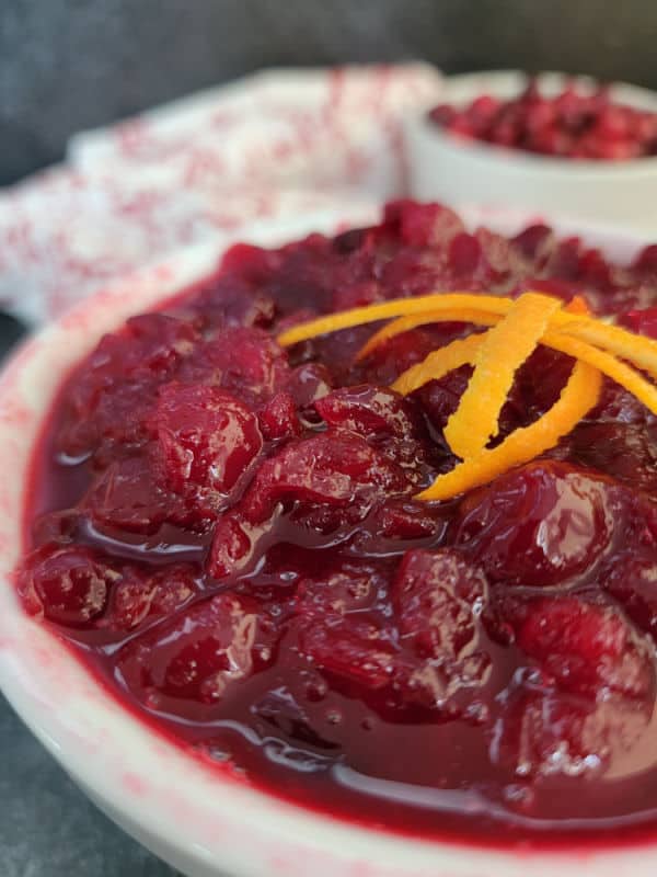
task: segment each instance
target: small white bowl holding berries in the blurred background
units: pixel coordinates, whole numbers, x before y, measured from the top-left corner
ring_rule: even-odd
[[[572,79],[572,78],[570,78]],[[484,92],[519,94],[527,76],[517,70],[466,73],[445,80],[441,102],[462,106]],[[562,73],[539,77],[541,91],[554,94]],[[583,90],[592,80],[578,78]],[[657,93],[616,83],[614,100],[657,111]],[[428,107],[429,109],[429,107]],[[622,225],[657,236],[657,157],[632,161],[574,161],[454,137],[427,117],[407,119],[405,138],[411,194],[448,204],[511,206],[572,219]]]

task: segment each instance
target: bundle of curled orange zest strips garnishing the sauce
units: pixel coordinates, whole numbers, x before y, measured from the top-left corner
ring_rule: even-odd
[[[356,358],[362,360],[394,335],[418,326],[462,322],[488,327],[485,332],[457,339],[434,351],[392,385],[392,389],[406,396],[462,365],[474,366],[459,407],[445,429],[446,440],[463,462],[416,497],[447,500],[554,447],[596,406],[602,375],[657,414],[657,387],[636,371],[657,379],[657,342],[591,317],[579,296],[565,308],[553,296],[531,292],[518,299],[472,293],[399,298],[301,323],[284,332],[278,341],[288,346],[326,332],[391,320],[358,352]],[[515,375],[538,344],[572,356],[573,373],[545,414],[489,448],[487,443],[497,435],[499,413]]]

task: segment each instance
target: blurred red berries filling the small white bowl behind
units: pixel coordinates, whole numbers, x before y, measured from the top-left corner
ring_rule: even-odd
[[[657,113],[612,101],[606,87],[585,94],[568,86],[548,98],[530,80],[512,100],[481,94],[464,107],[439,104],[429,117],[459,137],[548,156],[623,161],[657,155]]]

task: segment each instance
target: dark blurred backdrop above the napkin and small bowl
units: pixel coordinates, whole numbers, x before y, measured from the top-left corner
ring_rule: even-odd
[[[655,0],[0,0],[0,185],[68,136],[273,65],[430,60],[657,88]]]

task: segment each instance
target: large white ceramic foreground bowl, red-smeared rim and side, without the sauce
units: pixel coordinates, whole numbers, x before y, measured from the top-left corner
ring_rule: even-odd
[[[471,213],[500,231],[519,217]],[[313,226],[315,223],[313,221]],[[326,226],[337,223],[326,221]],[[309,230],[262,231],[279,243]],[[615,257],[639,240],[589,230]],[[100,292],[36,335],[0,378],[0,686],[44,745],[126,831],[193,877],[654,877],[654,845],[598,852],[502,852],[414,841],[322,817],[204,767],[142,725],[51,633],[27,617],[11,583],[35,441],[67,371],[103,332],[209,274],[204,244]]]

